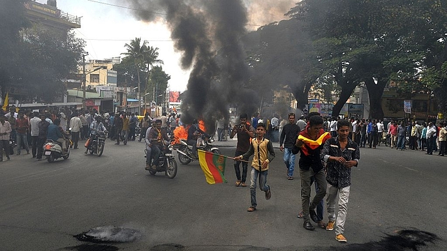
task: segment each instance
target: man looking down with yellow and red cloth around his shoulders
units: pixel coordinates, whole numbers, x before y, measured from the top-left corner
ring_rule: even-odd
[[[318,114],[318,113],[316,113]],[[309,124],[300,132],[292,153],[300,151],[300,178],[301,178],[301,204],[303,227],[309,231],[314,230],[310,223],[309,213],[312,220],[318,222],[315,208],[326,195],[326,178],[323,169],[323,163],[320,159],[321,149],[327,139],[330,139],[330,133],[323,130],[323,118],[318,114],[309,114]],[[318,190],[312,202],[309,204],[311,192],[311,179],[314,177]]]

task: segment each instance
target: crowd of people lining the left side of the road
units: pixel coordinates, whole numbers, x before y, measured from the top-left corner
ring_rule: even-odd
[[[181,123],[179,115],[163,113],[159,117],[161,128],[172,128]],[[10,107],[8,112],[0,111],[0,161],[3,161],[3,150],[6,159],[10,160],[11,148],[16,155],[32,153],[37,160],[42,159],[43,145],[47,139],[59,142],[63,151],[67,151],[68,138],[73,141],[73,149],[78,149],[80,140],[88,140],[98,132],[108,132],[108,137],[116,140],[115,144],[135,141],[140,133],[141,141],[151,126],[152,118],[145,114],[138,119],[138,113],[104,112],[96,109],[17,109]],[[139,130],[139,131],[138,131]]]

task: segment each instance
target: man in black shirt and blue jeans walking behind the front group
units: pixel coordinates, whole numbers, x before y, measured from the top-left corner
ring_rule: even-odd
[[[289,181],[293,180],[293,171],[295,170],[295,154],[292,153],[293,145],[295,144],[298,134],[301,129],[295,124],[295,114],[288,114],[288,124],[284,126],[279,138],[279,150],[284,151],[284,163],[287,168],[287,178]],[[284,146],[282,145],[284,143]]]

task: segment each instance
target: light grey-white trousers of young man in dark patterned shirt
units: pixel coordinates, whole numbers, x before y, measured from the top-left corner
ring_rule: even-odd
[[[330,221],[335,222],[335,235],[343,234],[344,232],[344,222],[346,221],[346,211],[348,209],[349,201],[349,190],[350,186],[346,188],[335,188],[328,184],[328,197],[326,198],[326,204],[328,204],[328,218]],[[337,221],[335,221],[335,200],[337,199],[338,193],[338,210],[337,210]]]

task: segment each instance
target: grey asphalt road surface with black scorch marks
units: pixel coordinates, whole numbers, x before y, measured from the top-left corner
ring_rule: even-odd
[[[215,143],[233,155],[236,142]],[[298,172],[287,180],[279,149],[268,174],[272,199],[257,190],[258,211],[248,213],[249,188],[235,187],[231,160],[228,183],[208,185],[197,161],[178,163],[173,179],[150,175],[141,142],[108,140],[101,157],[82,148],[51,164],[23,151],[0,162],[0,250],[406,250],[398,249],[400,230],[410,230],[402,232],[410,233],[402,245],[425,238],[418,250],[446,250],[447,157],[361,149],[344,244],[334,231],[302,227]],[[141,237],[131,243],[73,237],[100,226],[135,229]],[[430,234],[440,239],[430,243]]]

